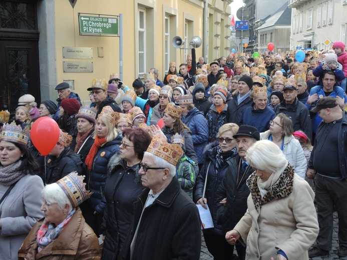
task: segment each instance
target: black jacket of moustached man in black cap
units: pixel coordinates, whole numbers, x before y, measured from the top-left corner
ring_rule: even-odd
[[[250,191],[246,180],[254,170],[249,165],[244,174],[240,175],[239,184],[236,185],[240,160],[241,157],[237,154],[228,161],[229,167],[216,193],[217,223],[222,225],[224,234],[233,229],[247,211],[247,197]],[[225,197],[226,205],[220,204]]]

